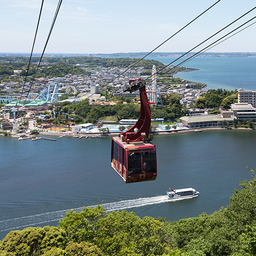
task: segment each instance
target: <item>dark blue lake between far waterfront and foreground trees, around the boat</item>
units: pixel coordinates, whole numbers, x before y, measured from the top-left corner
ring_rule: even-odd
[[[23,140],[0,137],[0,239],[13,229],[57,225],[67,210],[103,205],[168,221],[227,206],[255,168],[255,131],[155,136],[155,181],[125,184],[110,164],[111,138]],[[168,188],[200,196],[169,202]]]

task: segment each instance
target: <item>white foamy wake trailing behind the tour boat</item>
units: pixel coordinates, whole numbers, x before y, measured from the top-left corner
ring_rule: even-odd
[[[123,200],[119,202],[113,203],[106,203],[101,204],[106,211],[114,211],[114,210],[123,210],[123,209],[131,209],[137,207],[143,207],[145,205],[153,205],[153,204],[160,204],[166,202],[174,202],[180,201],[184,199],[175,199],[175,200],[168,200],[166,196],[156,196],[156,197],[147,197],[147,198],[139,198],[139,199],[132,199],[132,200]],[[96,207],[96,205],[91,205],[90,207]],[[83,207],[74,208],[75,211],[81,211]],[[8,230],[15,230],[15,229],[23,229],[30,226],[43,226],[41,224],[48,224],[50,222],[58,221],[62,219],[67,210],[60,210],[60,211],[53,211],[53,212],[46,212],[44,214],[26,216],[26,217],[19,217],[15,219],[9,219],[0,221],[0,232],[8,231]]]

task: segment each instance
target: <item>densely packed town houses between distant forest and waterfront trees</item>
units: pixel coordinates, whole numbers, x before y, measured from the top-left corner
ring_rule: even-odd
[[[53,78],[41,77],[33,83],[33,86],[31,86],[31,81],[28,81],[25,84],[24,82],[2,83],[0,84],[0,93],[2,93],[2,96],[0,96],[1,100],[3,103],[7,103],[7,100],[10,103],[12,100],[17,98],[17,95],[20,95],[22,92],[24,97],[28,92],[30,92],[30,94],[34,93],[35,95],[38,95],[42,90],[47,89],[49,84],[58,84],[59,97],[63,94],[76,94],[76,102],[79,100],[84,100],[88,97],[90,97],[90,101],[104,100],[105,97],[98,94],[98,91],[105,91],[107,89],[110,90],[114,96],[125,96],[126,98],[139,97],[138,91],[133,93],[124,93],[123,91],[126,84],[129,84],[129,80],[132,77],[141,77],[141,72],[145,71],[143,67],[136,67],[125,73],[123,72],[126,69],[123,67],[97,67],[83,69],[87,72],[90,72],[91,74],[67,74],[61,77]],[[117,78],[114,79],[115,77]],[[147,76],[142,78],[146,79]],[[191,86],[195,86],[195,84],[186,83],[183,80],[181,84],[175,84],[175,86],[174,84],[170,84],[168,82],[161,83],[158,86],[158,90],[160,94],[178,94],[181,97],[181,104],[184,106],[190,106],[191,104],[195,104],[197,98],[202,93],[207,91],[205,89],[194,89],[191,88]]]

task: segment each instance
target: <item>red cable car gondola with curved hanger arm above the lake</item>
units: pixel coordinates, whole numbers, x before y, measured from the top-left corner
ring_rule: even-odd
[[[143,79],[131,79],[125,91],[140,92],[140,117],[129,130],[112,138],[111,165],[125,183],[157,177],[156,147],[150,143],[151,110]],[[137,129],[137,131],[135,130]]]

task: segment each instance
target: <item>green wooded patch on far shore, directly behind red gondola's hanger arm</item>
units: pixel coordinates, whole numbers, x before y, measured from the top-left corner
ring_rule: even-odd
[[[140,115],[140,104],[131,99],[121,96],[117,99],[115,105],[96,105],[92,106],[89,99],[78,103],[70,103],[69,101],[55,103],[55,106],[61,106],[64,113],[68,113],[69,117],[74,118],[76,123],[83,123],[85,120],[91,123],[96,120],[112,120],[121,119],[138,119]],[[173,120],[179,116],[189,113],[189,110],[183,108],[180,103],[178,94],[166,94],[162,96],[164,108],[151,108],[152,118],[164,118],[165,120]],[[126,104],[123,104],[125,102]]]

